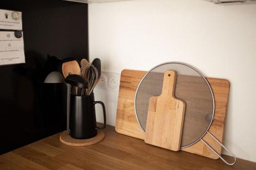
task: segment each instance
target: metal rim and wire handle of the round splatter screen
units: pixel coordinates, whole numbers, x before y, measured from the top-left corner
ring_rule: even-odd
[[[237,161],[236,157],[235,157],[235,156],[234,156],[234,155],[233,155],[233,154],[232,154],[232,153],[214,136],[214,135],[212,135],[210,132],[208,132],[208,130],[209,130],[209,128],[210,128],[212,122],[214,121],[214,114],[215,114],[215,99],[214,99],[214,93],[212,92],[212,89],[211,89],[211,87],[210,87],[209,82],[208,82],[207,79],[201,74],[201,72],[199,72],[196,68],[194,68],[194,67],[192,67],[192,66],[190,66],[190,65],[188,65],[188,64],[182,63],[182,62],[165,62],[165,63],[159,64],[159,65],[153,67],[152,69],[150,69],[150,70],[143,76],[143,78],[141,79],[141,81],[140,81],[140,83],[139,83],[139,85],[138,85],[138,87],[137,87],[136,93],[135,93],[135,98],[134,98],[134,111],[135,111],[135,115],[136,115],[138,124],[139,124],[141,130],[143,131],[143,133],[145,134],[145,131],[143,130],[143,128],[142,128],[141,125],[140,125],[140,122],[139,122],[139,119],[138,119],[138,116],[137,116],[137,111],[136,111],[137,92],[138,92],[138,89],[139,89],[139,87],[140,87],[140,84],[143,82],[143,80],[144,80],[144,78],[147,76],[147,74],[150,73],[150,72],[151,72],[152,70],[154,70],[155,68],[157,68],[157,67],[159,67],[159,66],[161,66],[161,65],[165,65],[165,64],[182,64],[182,65],[185,65],[185,66],[188,66],[188,67],[194,69],[194,70],[195,70],[196,72],[198,72],[198,74],[204,79],[204,81],[206,82],[206,84],[207,84],[207,86],[208,86],[208,88],[209,88],[209,90],[210,90],[210,92],[211,92],[211,96],[212,96],[213,109],[212,109],[212,116],[211,116],[211,120],[210,120],[209,126],[207,127],[206,131],[203,133],[203,135],[202,135],[199,139],[197,139],[197,140],[194,141],[193,143],[190,143],[190,144],[188,144],[188,145],[186,145],[186,146],[184,146],[184,147],[181,147],[181,149],[182,149],[182,148],[189,147],[190,145],[193,145],[193,144],[197,143],[199,140],[202,140],[202,142],[203,142],[212,152],[214,152],[219,158],[221,158],[221,160],[223,160],[226,164],[228,164],[228,165],[233,165],[234,163],[236,163],[236,161]],[[216,140],[233,158],[234,158],[234,162],[228,163],[220,154],[218,154],[214,149],[212,149],[212,148],[210,147],[210,145],[209,145],[205,140],[202,139],[202,138],[205,136],[206,133],[208,133],[213,139],[215,139],[215,140]]]

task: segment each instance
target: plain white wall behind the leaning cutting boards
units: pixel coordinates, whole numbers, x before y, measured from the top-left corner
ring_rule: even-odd
[[[231,83],[224,144],[256,162],[256,5],[135,0],[89,5],[90,58],[105,71],[185,62]],[[114,125],[117,94],[96,90]]]

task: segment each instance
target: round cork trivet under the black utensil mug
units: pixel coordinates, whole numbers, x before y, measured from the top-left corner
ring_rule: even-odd
[[[98,131],[98,134],[90,139],[74,139],[70,135],[67,134],[67,131],[61,133],[59,136],[59,140],[67,145],[75,146],[75,147],[82,147],[82,146],[88,146],[95,143],[100,142],[105,137],[105,134],[103,131]]]

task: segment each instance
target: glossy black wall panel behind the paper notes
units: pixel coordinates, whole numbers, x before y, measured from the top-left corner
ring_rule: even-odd
[[[46,85],[62,59],[88,58],[88,8],[60,0],[1,1],[23,12],[25,64],[0,66],[0,154],[66,128],[66,86]]]

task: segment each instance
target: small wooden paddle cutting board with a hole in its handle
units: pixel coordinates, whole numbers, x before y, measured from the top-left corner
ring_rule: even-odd
[[[185,102],[174,96],[176,71],[164,72],[162,93],[148,105],[145,142],[172,151],[180,150]]]

